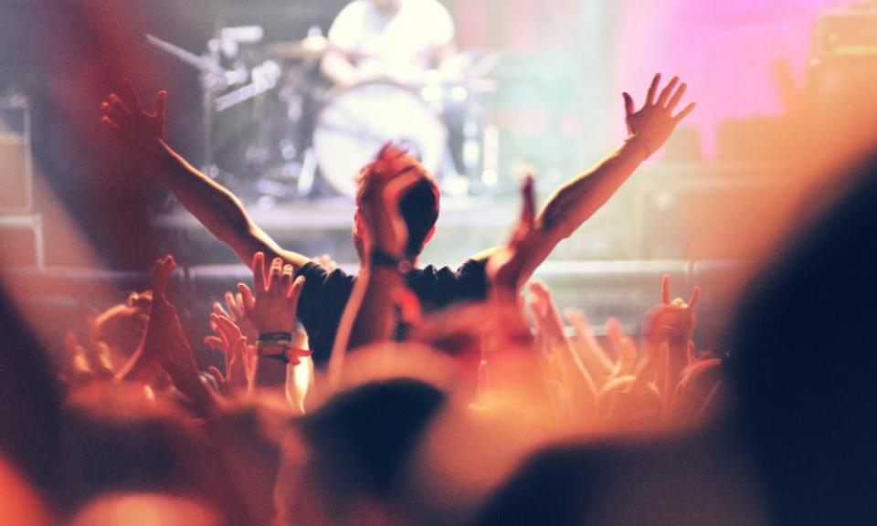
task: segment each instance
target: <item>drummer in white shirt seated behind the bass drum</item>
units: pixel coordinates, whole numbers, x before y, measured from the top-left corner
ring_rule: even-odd
[[[329,29],[323,74],[341,87],[389,80],[415,87],[439,67],[454,77],[454,21],[437,0],[354,0]]]

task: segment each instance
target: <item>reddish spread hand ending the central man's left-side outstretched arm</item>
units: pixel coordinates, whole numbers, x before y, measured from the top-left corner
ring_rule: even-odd
[[[119,93],[111,93],[100,104],[103,114],[100,121],[116,133],[128,153],[137,156],[139,161],[154,162],[157,160],[154,153],[159,152],[160,141],[164,138],[165,100],[167,91],[159,91],[155,97],[155,111],[147,113],[131,82],[124,79]]]

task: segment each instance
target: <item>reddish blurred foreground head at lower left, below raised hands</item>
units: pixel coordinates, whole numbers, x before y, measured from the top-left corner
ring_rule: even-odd
[[[242,502],[204,430],[142,386],[94,383],[69,395],[58,505],[79,510],[100,495],[159,492],[205,502],[227,523]]]

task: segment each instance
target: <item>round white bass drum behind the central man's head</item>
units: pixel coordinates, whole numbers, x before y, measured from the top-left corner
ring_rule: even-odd
[[[428,104],[410,89],[367,82],[343,89],[317,117],[313,150],[322,177],[342,195],[356,195],[355,176],[386,142],[402,147],[431,173],[444,158],[448,132]]]

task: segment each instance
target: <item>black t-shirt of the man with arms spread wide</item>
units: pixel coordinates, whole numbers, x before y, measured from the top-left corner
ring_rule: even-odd
[[[469,259],[455,272],[448,267],[414,268],[405,278],[409,289],[417,294],[424,311],[443,309],[453,303],[482,300],[487,295],[486,261]],[[299,269],[304,276],[304,289],[299,299],[299,320],[308,332],[315,363],[329,359],[335,332],[355,277],[340,268],[326,272],[322,266],[309,262]]]

